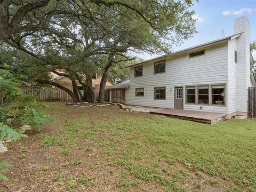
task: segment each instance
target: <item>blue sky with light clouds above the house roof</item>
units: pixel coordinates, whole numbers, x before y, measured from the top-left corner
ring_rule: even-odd
[[[213,41],[220,38],[221,30],[225,36],[234,34],[234,20],[246,15],[250,22],[250,42],[256,40],[256,0],[199,0],[194,1],[191,9],[195,10],[197,34],[186,40],[174,51]],[[151,59],[157,55],[137,54],[143,59]]]

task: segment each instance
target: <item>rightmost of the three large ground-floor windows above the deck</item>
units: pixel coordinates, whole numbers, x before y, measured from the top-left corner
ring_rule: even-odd
[[[225,105],[224,85],[212,85],[212,104]]]

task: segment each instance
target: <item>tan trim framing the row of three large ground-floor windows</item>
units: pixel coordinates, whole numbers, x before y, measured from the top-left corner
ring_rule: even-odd
[[[224,105],[212,103],[212,86],[213,85],[224,85],[225,95],[224,95]],[[187,102],[187,87],[196,87],[196,103]],[[209,86],[209,104],[198,103],[198,86]],[[214,83],[214,84],[202,84],[202,85],[185,85],[185,105],[198,105],[198,106],[216,106],[216,107],[227,107],[227,83]]]

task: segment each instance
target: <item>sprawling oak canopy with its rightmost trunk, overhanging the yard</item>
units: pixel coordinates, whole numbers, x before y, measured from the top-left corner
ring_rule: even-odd
[[[51,70],[74,73],[75,66],[90,58],[107,58],[100,65],[95,62],[103,69],[99,102],[111,67],[130,60],[128,52],[170,53],[173,44],[195,32],[189,0],[22,2],[0,1],[5,15],[0,22],[7,26],[0,39]]]

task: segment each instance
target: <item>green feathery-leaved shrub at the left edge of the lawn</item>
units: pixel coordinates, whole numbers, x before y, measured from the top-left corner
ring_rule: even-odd
[[[6,63],[4,68],[8,66]],[[22,86],[27,85],[26,77],[22,75],[14,75],[7,69],[0,69],[0,141],[3,139],[17,141],[22,137],[25,130],[16,131],[20,124],[29,124],[37,130],[42,129],[43,123],[50,123],[52,119],[39,112],[38,109],[46,107],[39,104],[34,96],[24,94]],[[21,156],[25,158],[26,155]],[[0,166],[11,166],[7,162],[1,162]],[[0,179],[7,181],[7,177],[1,173],[7,171],[0,169]]]

